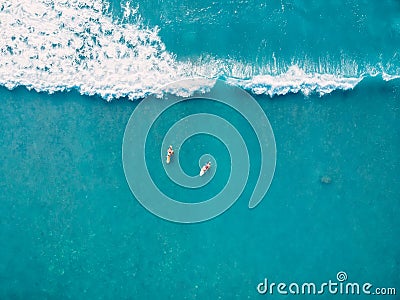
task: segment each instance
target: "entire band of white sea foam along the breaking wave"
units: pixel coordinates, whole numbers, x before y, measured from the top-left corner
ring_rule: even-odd
[[[324,95],[351,89],[363,78],[349,61],[340,68],[304,61],[287,66],[275,56],[257,68],[213,57],[179,61],[166,50],[158,28],[142,24],[137,7],[124,6],[123,17],[134,22],[115,21],[107,11],[100,0],[5,0],[0,4],[0,84],[48,93],[76,89],[111,100],[143,98],[172,81],[198,76],[223,78],[270,96]],[[385,80],[394,76],[381,74]],[[188,95],[212,82],[168,92]]]

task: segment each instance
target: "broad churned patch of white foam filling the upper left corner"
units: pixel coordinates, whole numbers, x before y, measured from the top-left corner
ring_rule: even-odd
[[[157,28],[121,24],[106,11],[101,1],[0,4],[0,84],[135,99],[185,74]],[[134,13],[125,7],[125,16]]]

